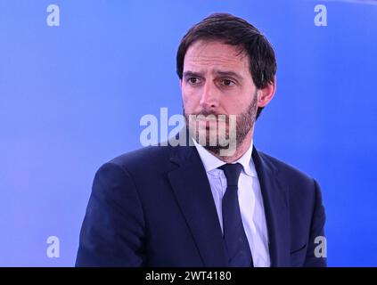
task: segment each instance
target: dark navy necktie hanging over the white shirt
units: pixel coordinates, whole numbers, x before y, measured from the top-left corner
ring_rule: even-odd
[[[253,266],[249,242],[242,225],[238,203],[238,178],[242,165],[225,164],[222,169],[226,177],[226,191],[223,197],[223,231],[229,266]]]

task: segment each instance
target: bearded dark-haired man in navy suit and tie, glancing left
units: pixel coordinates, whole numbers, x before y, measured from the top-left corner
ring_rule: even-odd
[[[266,37],[213,14],[184,36],[176,67],[187,144],[132,151],[98,170],[76,265],[325,266],[318,184],[253,146],[255,120],[275,94]],[[224,154],[226,138],[235,149]]]

